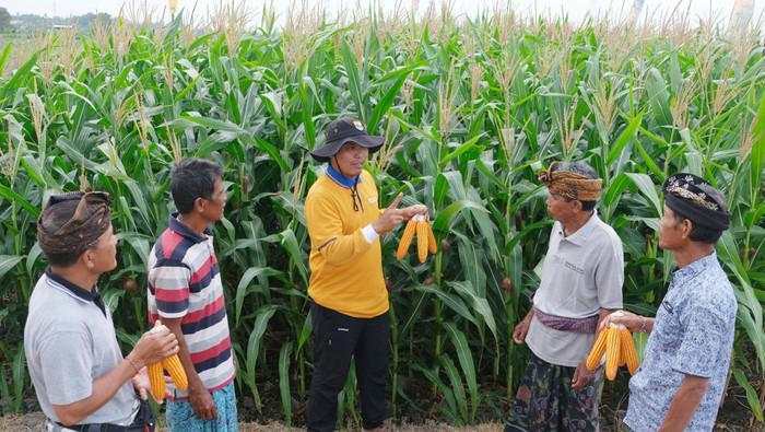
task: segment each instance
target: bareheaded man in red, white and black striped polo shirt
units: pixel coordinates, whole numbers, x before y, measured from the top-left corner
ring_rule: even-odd
[[[223,217],[226,191],[219,165],[189,159],[175,166],[170,191],[178,213],[149,259],[149,314],[178,338],[187,392],[173,386],[170,431],[237,430],[234,359],[225,299],[209,226]]]

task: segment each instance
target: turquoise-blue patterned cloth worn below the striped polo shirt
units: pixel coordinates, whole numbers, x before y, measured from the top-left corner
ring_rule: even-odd
[[[236,432],[239,423],[236,419],[236,395],[234,382],[212,393],[212,400],[217,410],[213,420],[202,420],[193,412],[187,400],[167,401],[167,429],[170,432]]]

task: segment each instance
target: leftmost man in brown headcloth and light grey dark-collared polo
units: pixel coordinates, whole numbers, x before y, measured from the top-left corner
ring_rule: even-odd
[[[46,429],[154,430],[149,405],[136,392],[146,397],[144,366],[176,353],[178,341],[157,326],[122,358],[111,312],[96,288],[98,277],[117,266],[108,195],[50,197],[37,241],[50,267],[30,299],[24,352]]]

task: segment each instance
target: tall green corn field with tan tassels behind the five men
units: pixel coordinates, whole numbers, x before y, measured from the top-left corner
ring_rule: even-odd
[[[386,205],[426,205],[440,247],[423,265],[382,240],[391,299],[395,419],[499,420],[528,350],[511,341],[539,283],[552,221],[536,173],[587,160],[599,214],[624,243],[625,307],[652,316],[672,269],[658,248],[661,184],[686,171],[722,190],[732,226],[718,255],[739,300],[727,398],[763,421],[765,402],[765,48],[762,36],[674,20],[657,26],[457,20],[298,9],[257,28],[232,7],[196,28],[129,20],[0,48],[0,394],[30,409],[26,306],[45,260],[42,203],[59,190],[113,196],[118,268],[99,290],[127,351],[146,328],[146,260],[173,211],[169,171],[224,166],[214,227],[238,364],[240,410],[302,424],[311,375],[306,295],[308,150],[339,115],[387,145],[367,168]],[[645,340],[638,340],[638,352]],[[628,376],[607,390],[626,398]],[[343,424],[358,427],[353,371]],[[619,398],[616,399],[619,400]],[[626,406],[626,405],[625,405]],[[242,408],[244,407],[244,409]]]

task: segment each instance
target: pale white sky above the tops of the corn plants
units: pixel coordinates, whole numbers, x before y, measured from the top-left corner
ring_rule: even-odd
[[[196,3],[195,16],[204,16],[222,0],[178,0],[180,7],[193,8]],[[232,0],[225,0],[227,2]],[[263,3],[271,3],[270,0],[234,0],[236,3],[245,3],[252,11],[262,9]],[[317,0],[308,1],[315,3]],[[457,14],[474,15],[482,10],[494,9],[495,4],[510,3],[513,8],[522,14],[545,14],[545,15],[567,15],[570,20],[578,22],[587,15],[604,16],[613,15],[620,11],[628,11],[634,1],[643,1],[643,15],[666,16],[675,8],[678,1],[672,0],[450,0],[454,11]],[[693,19],[707,20],[710,15],[721,20],[730,16],[733,3],[737,0],[680,0],[683,7]],[[755,17],[761,16],[765,10],[765,0],[738,0],[740,2],[753,2]],[[417,4],[419,10],[424,10],[429,0],[376,0],[385,9],[392,10],[397,7],[411,8]],[[435,1],[440,4],[440,0]],[[4,7],[11,14],[35,13],[48,16],[71,16],[81,15],[89,12],[106,12],[111,15],[119,13],[123,4],[142,5],[145,3],[150,9],[157,11],[156,15],[166,8],[167,0],[0,0],[0,7]],[[293,1],[275,0],[280,15],[286,15]],[[333,15],[337,11],[344,9],[356,9],[372,3],[372,0],[322,0],[325,8]]]

